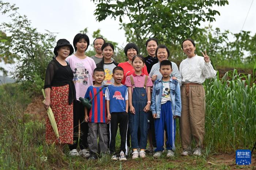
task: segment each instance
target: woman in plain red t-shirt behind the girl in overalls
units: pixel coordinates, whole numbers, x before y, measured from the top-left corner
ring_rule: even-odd
[[[138,47],[134,43],[128,43],[124,47],[124,53],[128,57],[127,62],[119,63],[118,66],[122,67],[124,69],[124,79],[122,80],[122,84],[125,83],[126,77],[129,75],[132,75],[134,73],[134,68],[132,67],[132,58],[133,56],[137,55],[139,52]],[[142,68],[142,73],[148,75],[147,67],[144,66]]]

